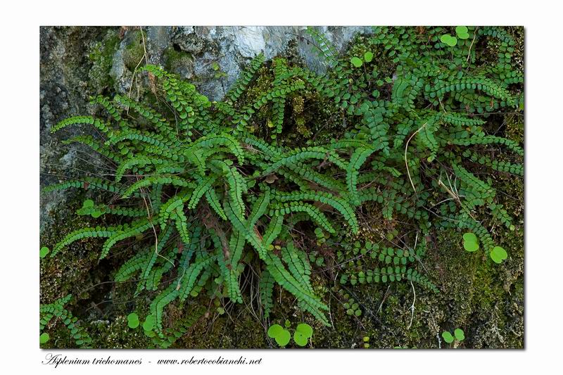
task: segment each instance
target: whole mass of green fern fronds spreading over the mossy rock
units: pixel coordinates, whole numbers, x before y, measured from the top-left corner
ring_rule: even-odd
[[[512,205],[495,186],[498,175],[524,175],[524,150],[512,140],[520,139],[512,125],[521,125],[524,100],[512,32],[467,27],[451,46],[441,40],[450,28],[376,27],[339,53],[320,30],[309,27],[305,40],[328,67],[322,75],[294,59],[264,65],[260,54],[222,101],[210,101],[178,75],[144,65],[139,70],[148,81],[141,82],[156,97],[95,96],[91,103],[107,115],[69,117],[51,127],[93,126],[99,136],[63,144],[99,153],[110,169],[102,175],[112,180],[69,178],[42,193],[99,190],[87,192],[77,215],[121,223],[77,229],[53,246],[51,257],[83,239],[105,240],[101,259],[122,246],[128,258],[113,279],[139,279],[137,302],[143,291],[152,298],[148,312],[156,324],[147,335],[154,345],[170,347],[186,333],[207,311],[199,308],[203,300],[243,303],[248,274],[259,277],[257,311],[266,319],[279,318],[278,284],[329,326],[324,298],[314,293],[326,289],[312,283],[312,267],[334,268],[332,259],[326,267],[327,249],[338,265],[337,289],[412,281],[438,291],[416,269],[435,228],[472,231],[488,252],[495,246],[489,226],[514,230]],[[482,58],[482,46],[492,63]],[[370,216],[391,228],[378,243],[372,241],[379,232],[358,222]],[[417,245],[396,248],[391,235]],[[69,299],[42,305],[40,328],[61,317],[77,345],[88,347],[64,308]],[[175,313],[164,319],[171,303]]]

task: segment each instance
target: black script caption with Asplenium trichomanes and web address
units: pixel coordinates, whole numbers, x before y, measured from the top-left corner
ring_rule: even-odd
[[[51,365],[55,368],[59,366],[66,365],[121,365],[121,366],[136,366],[136,365],[151,365],[157,364],[161,366],[165,365],[189,365],[189,364],[217,364],[217,365],[239,365],[239,364],[262,364],[262,358],[247,358],[240,356],[238,358],[226,358],[222,355],[217,357],[194,357],[190,358],[163,358],[163,359],[151,359],[143,360],[142,357],[139,358],[115,358],[112,356],[108,357],[68,357],[61,354],[48,353],[42,364]]]

